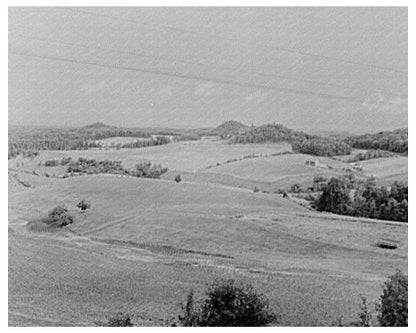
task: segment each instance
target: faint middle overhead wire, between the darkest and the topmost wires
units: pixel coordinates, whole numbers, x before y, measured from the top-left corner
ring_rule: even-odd
[[[68,45],[68,46],[76,46],[81,47],[85,49],[90,50],[99,50],[99,51],[105,51],[105,52],[115,52],[119,54],[126,54],[129,56],[135,56],[135,57],[141,57],[141,58],[147,58],[147,59],[154,59],[154,60],[161,60],[161,61],[168,61],[168,62],[176,62],[176,63],[184,63],[189,65],[196,65],[201,66],[209,69],[219,69],[219,70],[231,70],[236,71],[242,74],[254,74],[260,77],[267,77],[267,78],[278,78],[278,79],[285,79],[285,80],[292,80],[292,81],[298,81],[298,82],[305,82],[305,83],[312,83],[314,85],[321,85],[321,86],[328,86],[328,87],[334,87],[339,89],[345,89],[345,90],[351,90],[351,91],[359,91],[363,92],[365,89],[363,88],[357,88],[357,87],[351,87],[346,85],[338,85],[338,84],[332,84],[332,83],[325,83],[321,81],[316,80],[310,80],[310,79],[304,79],[304,78],[296,78],[291,76],[285,76],[285,75],[278,75],[278,74],[272,74],[272,73],[262,73],[257,72],[255,69],[244,67],[244,69],[236,66],[219,66],[219,65],[209,65],[197,61],[189,61],[182,58],[172,58],[172,57],[166,57],[166,56],[160,56],[160,55],[154,55],[154,54],[146,54],[146,53],[138,53],[138,52],[132,52],[132,51],[126,51],[126,50],[118,50],[114,48],[107,48],[107,47],[101,47],[101,46],[91,46],[91,45],[85,45],[80,43],[74,43],[74,42],[68,42],[58,39],[51,39],[51,38],[40,38],[40,37],[34,37],[34,36],[26,36],[21,34],[14,34],[10,33],[10,35],[23,38],[23,39],[29,39],[29,40],[37,40],[44,43],[53,43],[53,44],[62,44],[62,45]],[[373,91],[368,91],[370,93],[374,93]],[[394,95],[388,92],[383,92],[389,96],[397,97],[398,95]],[[402,96],[401,96],[402,97]]]

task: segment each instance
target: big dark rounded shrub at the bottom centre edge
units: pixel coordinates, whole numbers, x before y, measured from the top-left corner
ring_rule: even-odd
[[[216,280],[206,291],[206,299],[196,305],[188,294],[179,322],[183,326],[266,326],[277,318],[263,295],[248,284]]]

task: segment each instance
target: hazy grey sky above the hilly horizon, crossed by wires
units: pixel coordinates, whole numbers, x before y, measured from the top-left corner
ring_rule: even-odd
[[[407,127],[407,8],[9,7],[9,123]]]

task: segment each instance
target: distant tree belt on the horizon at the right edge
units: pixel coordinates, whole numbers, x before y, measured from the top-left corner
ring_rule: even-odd
[[[346,142],[358,149],[381,149],[395,153],[407,153],[408,151],[407,128],[351,136],[346,139]]]

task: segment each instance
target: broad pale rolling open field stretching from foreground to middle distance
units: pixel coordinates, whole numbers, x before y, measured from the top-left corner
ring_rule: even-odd
[[[159,180],[114,175],[59,179],[28,173],[39,161],[64,156],[134,165],[145,155],[165,165],[161,152],[149,151],[164,148],[167,154],[169,147],[181,147],[171,149],[170,162],[166,159],[168,167],[184,174],[181,183],[170,175]],[[277,175],[289,174],[287,165],[292,163],[298,165],[292,170],[301,174],[308,168],[302,164],[307,157],[260,157],[205,170],[210,164],[277,149],[175,143],[111,155],[43,152],[33,160],[18,160],[18,168],[11,161],[9,325],[93,325],[120,311],[131,313],[136,325],[167,325],[191,289],[198,297],[215,278],[253,284],[281,316],[280,325],[356,319],[360,295],[372,304],[389,275],[396,269],[407,272],[407,224],[317,213],[280,195],[211,179],[235,173],[237,180],[274,182],[274,168]],[[280,169],[278,158],[286,161]],[[239,173],[232,169],[246,162],[261,162],[255,168],[263,178],[255,178],[249,164],[237,168]],[[223,175],[212,173],[215,169]],[[76,208],[81,199],[92,205],[85,213]],[[71,210],[73,225],[50,231],[30,227],[30,221],[57,205]],[[383,237],[397,240],[398,249],[378,248]]]

